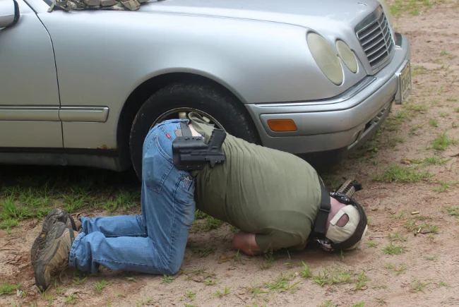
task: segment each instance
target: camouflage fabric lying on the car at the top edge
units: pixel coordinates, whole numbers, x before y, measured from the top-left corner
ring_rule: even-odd
[[[54,0],[48,12],[51,13],[55,6],[64,11],[88,9],[136,11],[141,7],[141,4],[148,1],[150,0]]]

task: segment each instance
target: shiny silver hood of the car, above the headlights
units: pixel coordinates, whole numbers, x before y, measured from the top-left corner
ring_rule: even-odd
[[[378,5],[377,0],[165,0],[143,4],[140,11],[243,18],[330,30],[333,25],[357,25]]]

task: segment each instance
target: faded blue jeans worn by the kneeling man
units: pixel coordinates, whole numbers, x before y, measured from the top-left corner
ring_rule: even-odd
[[[155,126],[143,143],[142,214],[82,217],[69,266],[97,272],[112,270],[173,275],[184,258],[194,219],[194,180],[172,162],[172,141],[180,121]]]

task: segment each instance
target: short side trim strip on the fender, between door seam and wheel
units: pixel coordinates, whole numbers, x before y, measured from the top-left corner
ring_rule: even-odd
[[[108,119],[108,107],[61,107],[61,121],[90,121],[105,123]]]

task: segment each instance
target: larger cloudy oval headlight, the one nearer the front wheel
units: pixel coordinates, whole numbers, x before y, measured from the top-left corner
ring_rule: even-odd
[[[316,61],[318,68],[335,85],[342,83],[342,67],[338,56],[325,38],[314,32],[309,32],[306,36],[309,50]]]

